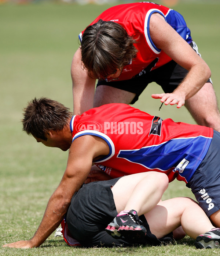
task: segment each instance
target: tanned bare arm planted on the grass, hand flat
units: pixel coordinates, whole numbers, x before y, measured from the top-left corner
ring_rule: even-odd
[[[68,210],[72,196],[81,187],[91,170],[92,160],[109,153],[109,148],[100,138],[86,135],[77,138],[70,147],[67,167],[62,180],[49,199],[43,219],[28,241],[4,245],[12,248],[33,248],[40,246],[59,226]]]

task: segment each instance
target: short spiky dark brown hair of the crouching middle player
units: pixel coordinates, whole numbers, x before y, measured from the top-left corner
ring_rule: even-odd
[[[47,140],[45,132],[62,130],[72,115],[69,108],[55,100],[35,98],[23,109],[23,131],[36,138]]]

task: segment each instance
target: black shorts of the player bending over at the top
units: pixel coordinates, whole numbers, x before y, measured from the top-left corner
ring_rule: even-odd
[[[198,47],[195,42],[191,42],[190,46],[192,49],[194,49],[194,51],[197,52],[197,54],[199,54]],[[201,55],[199,54],[199,56]],[[108,85],[121,90],[126,90],[128,92],[136,93],[136,96],[130,103],[134,104],[138,100],[138,97],[143,90],[147,87],[148,83],[156,82],[161,86],[165,93],[171,93],[183,81],[187,73],[188,71],[185,68],[171,60],[162,67],[156,68],[153,71],[150,71],[149,68],[146,67],[139,74],[135,75],[129,80],[106,82],[100,79],[97,86]],[[212,83],[211,79],[209,79],[207,82]]]

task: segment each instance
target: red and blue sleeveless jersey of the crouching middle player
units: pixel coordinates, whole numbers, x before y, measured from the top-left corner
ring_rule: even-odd
[[[73,141],[102,138],[110,152],[94,163],[112,178],[146,171],[186,183],[204,159],[213,129],[152,116],[127,104],[111,103],[73,116]]]

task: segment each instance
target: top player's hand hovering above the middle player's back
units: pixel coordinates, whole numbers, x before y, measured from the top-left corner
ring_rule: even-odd
[[[161,94],[152,94],[152,98],[161,99],[161,102],[164,102],[165,105],[175,105],[179,109],[185,104],[185,97],[179,93],[161,93]]]

